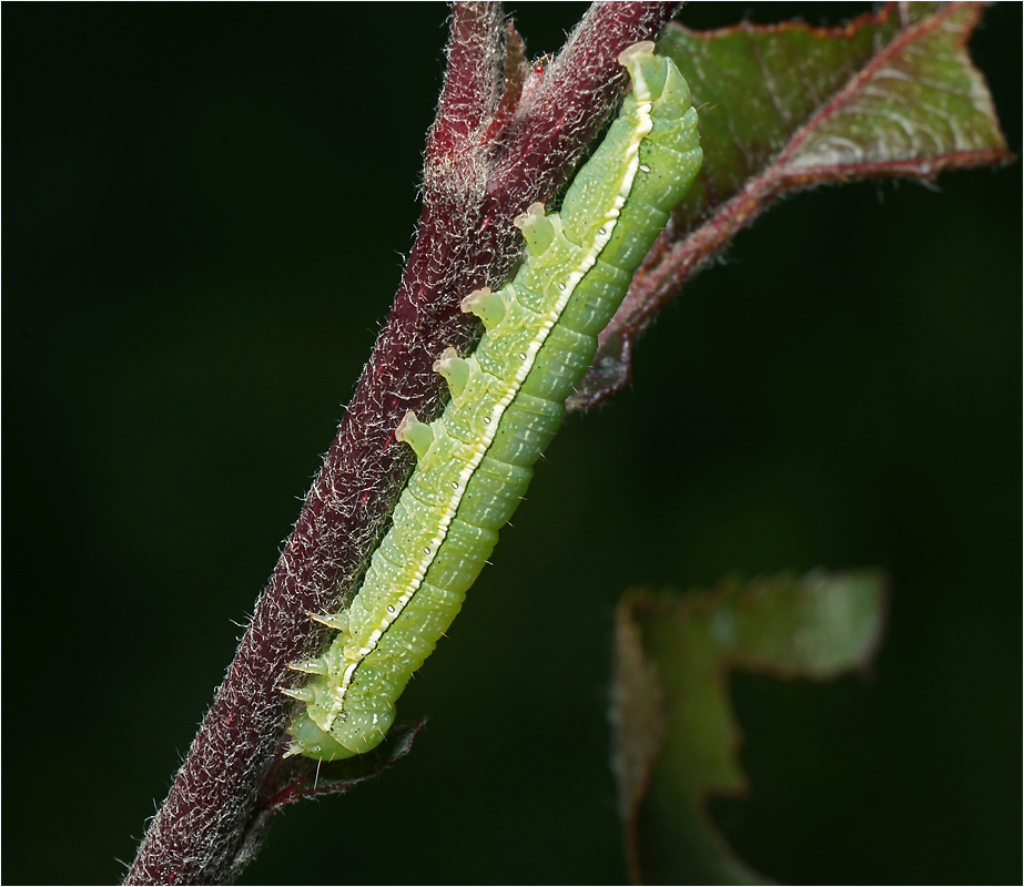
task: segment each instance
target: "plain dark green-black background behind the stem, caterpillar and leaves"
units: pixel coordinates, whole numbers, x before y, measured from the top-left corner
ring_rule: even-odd
[[[582,9],[514,11],[537,54]],[[4,4],[6,881],[116,880],[163,798],[398,282],[445,17]],[[974,42],[1015,151],[1021,31]],[[733,680],[728,840],[789,881],[1017,880],[1021,194],[827,188],[744,232],[550,448],[402,701],[414,754],[245,880],[621,881],[617,597],[817,565],[886,567],[889,636],[866,680]]]

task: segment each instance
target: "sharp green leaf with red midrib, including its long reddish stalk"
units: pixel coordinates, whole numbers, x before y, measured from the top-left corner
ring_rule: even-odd
[[[930,181],[944,170],[1012,161],[966,49],[983,13],[982,3],[888,3],[840,28],[669,28],[659,51],[693,93],[703,166],[601,334],[570,407],[628,383],[637,336],[780,196],[885,176]]]

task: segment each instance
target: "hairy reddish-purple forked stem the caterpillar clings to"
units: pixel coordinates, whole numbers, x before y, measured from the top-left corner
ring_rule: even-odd
[[[255,855],[271,798],[305,766],[280,757],[292,710],[280,693],[286,664],[322,646],[308,613],[336,609],[351,593],[408,476],[408,448],[396,445],[394,429],[409,409],[436,415],[432,364],[445,346],[472,339],[460,297],[500,285],[517,253],[513,218],[551,196],[614,108],[623,85],[618,53],[656,38],[678,6],[595,4],[543,73],[523,77],[521,64],[509,65],[506,82],[521,91],[514,106],[499,106],[500,7],[455,4],[419,231],[394,306],[126,883],[223,884]]]

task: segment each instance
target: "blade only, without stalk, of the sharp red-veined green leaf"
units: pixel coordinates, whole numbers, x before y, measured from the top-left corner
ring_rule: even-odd
[[[1006,142],[966,43],[981,4],[888,6],[842,28],[802,22],[666,31],[707,159],[678,215],[697,221],[748,180],[800,184],[993,162]],[[797,184],[794,182],[793,184]]]

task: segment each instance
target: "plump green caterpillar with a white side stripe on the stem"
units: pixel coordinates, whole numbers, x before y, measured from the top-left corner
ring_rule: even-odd
[[[643,42],[619,55],[632,92],[561,211],[535,203],[516,220],[527,249],[515,279],[463,299],[486,332],[474,354],[448,348],[435,364],[452,390],[444,415],[425,425],[409,412],[396,431],[418,462],[352,604],[320,618],[338,632],[331,648],[292,666],[314,676],[283,691],[305,703],[288,755],[335,761],[384,738],[526,492],[598,333],[697,175],[689,88],[653,51]]]

